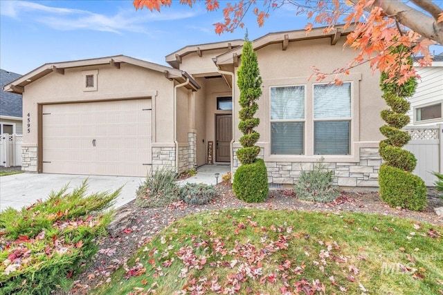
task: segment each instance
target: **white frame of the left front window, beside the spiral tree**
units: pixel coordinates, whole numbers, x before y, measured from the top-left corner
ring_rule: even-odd
[[[284,87],[303,87],[303,119],[271,119],[272,118],[272,108],[271,108],[271,88],[284,88]],[[303,124],[302,128],[302,153],[300,154],[287,154],[287,153],[273,153],[272,151],[272,123],[291,123],[291,122],[301,122]],[[287,84],[287,85],[274,85],[269,86],[269,153],[271,156],[305,156],[306,155],[306,136],[307,136],[307,84]]]

